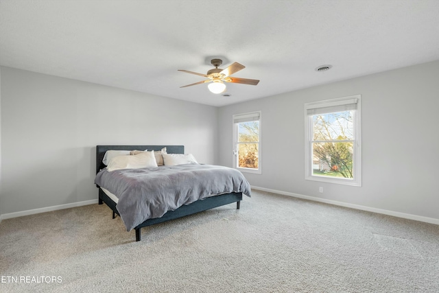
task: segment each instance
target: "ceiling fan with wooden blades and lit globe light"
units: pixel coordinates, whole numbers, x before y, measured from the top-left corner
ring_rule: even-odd
[[[192,73],[192,74],[204,76],[204,78],[209,78],[209,80],[202,80],[201,82],[195,82],[194,84],[180,86],[180,88],[184,88],[187,86],[194,86],[195,84],[204,84],[205,82],[212,82],[207,86],[209,88],[209,91],[211,91],[212,93],[223,93],[224,91],[226,91],[226,84],[224,84],[224,82],[235,82],[237,84],[250,84],[253,86],[257,85],[259,82],[259,80],[249,80],[247,78],[234,78],[230,76],[233,73],[236,73],[241,69],[246,68],[244,65],[241,65],[238,62],[233,63],[226,69],[218,68],[220,65],[222,65],[221,59],[212,59],[211,64],[215,66],[215,69],[211,69],[207,71],[206,74],[178,69],[178,71]]]

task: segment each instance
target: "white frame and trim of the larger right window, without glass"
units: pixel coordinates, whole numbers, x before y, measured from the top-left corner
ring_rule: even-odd
[[[313,175],[313,121],[316,114],[335,113],[354,108],[353,174],[354,178]],[[361,186],[361,95],[328,99],[305,104],[305,180]]]

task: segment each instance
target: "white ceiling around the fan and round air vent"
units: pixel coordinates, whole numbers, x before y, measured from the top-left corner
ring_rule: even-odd
[[[180,89],[218,57],[261,81]],[[0,0],[0,65],[213,106],[433,60],[439,0]]]

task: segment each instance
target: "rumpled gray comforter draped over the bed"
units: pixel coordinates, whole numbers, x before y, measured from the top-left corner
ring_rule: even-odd
[[[160,218],[183,204],[230,192],[251,196],[250,185],[237,169],[217,165],[102,169],[95,183],[119,198],[117,211],[131,231],[150,218]]]

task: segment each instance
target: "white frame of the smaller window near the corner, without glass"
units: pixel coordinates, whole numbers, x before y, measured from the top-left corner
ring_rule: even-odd
[[[262,111],[253,111],[248,113],[241,113],[233,115],[233,167],[238,169],[241,172],[253,173],[253,174],[262,174],[262,161],[261,161],[261,119],[262,119]],[[258,142],[258,169],[253,168],[243,168],[238,167],[238,123],[246,122],[246,121],[259,121],[259,142]]]

